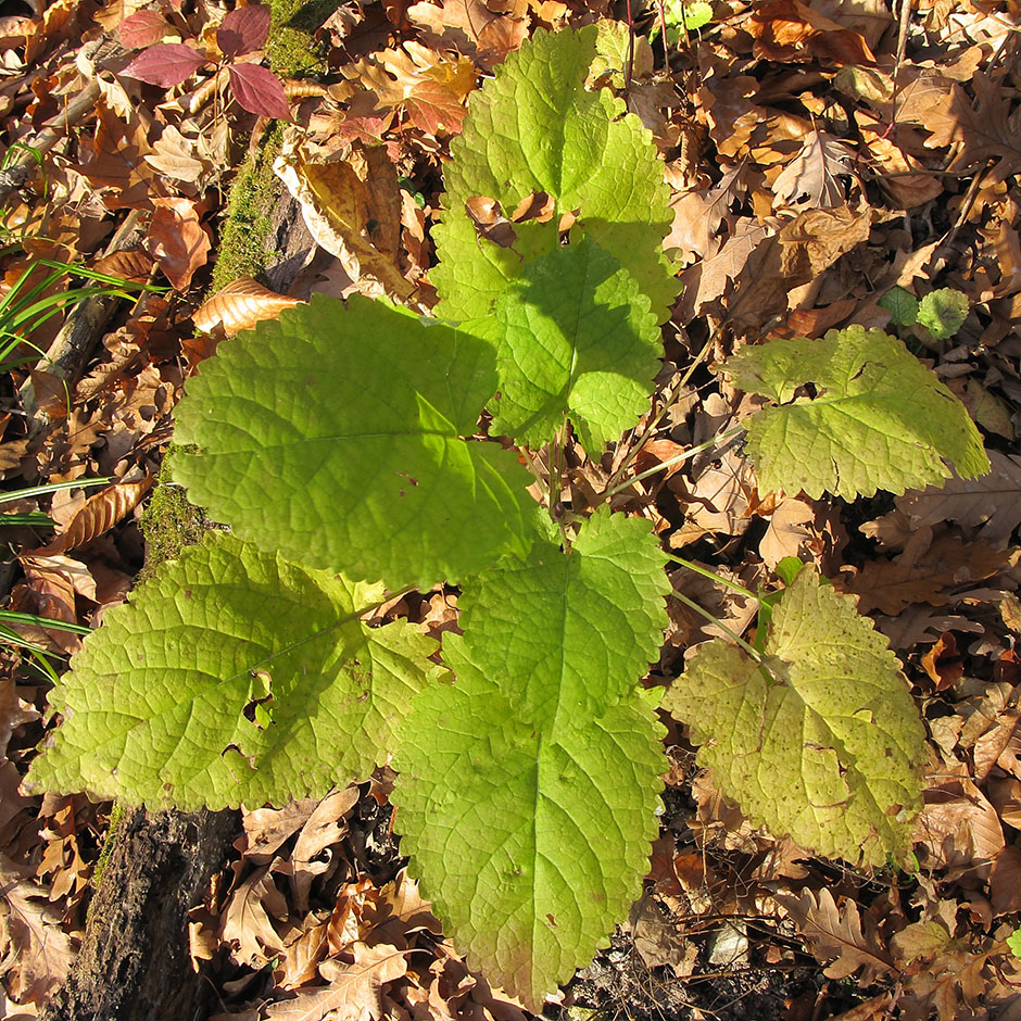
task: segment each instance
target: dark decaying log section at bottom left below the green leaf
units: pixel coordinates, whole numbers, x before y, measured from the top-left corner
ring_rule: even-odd
[[[212,985],[188,955],[189,908],[241,831],[236,811],[129,809],[89,911],[78,958],[42,1021],[202,1021]]]

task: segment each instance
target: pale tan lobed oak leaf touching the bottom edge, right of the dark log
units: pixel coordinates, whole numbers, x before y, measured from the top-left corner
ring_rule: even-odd
[[[352,963],[330,958],[319,965],[328,988],[303,990],[294,999],[279,1000],[266,1009],[273,1021],[378,1021],[386,1013],[382,987],[407,972],[404,953],[394,946],[350,948]]]

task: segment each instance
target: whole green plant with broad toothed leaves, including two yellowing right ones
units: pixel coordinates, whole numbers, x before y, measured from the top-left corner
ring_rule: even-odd
[[[587,85],[598,38],[538,33],[472,97],[436,230],[444,318],[314,297],[190,381],[175,475],[232,533],[108,615],[51,695],[64,721],[28,780],[255,806],[393,752],[426,895],[532,1008],[638,894],[666,766],[660,693],[641,679],[667,556],[647,522],[609,513],[613,484],[584,520],[560,504],[568,423],[592,456],[634,425],[677,289],[651,137]],[[538,212],[497,243],[465,215],[479,197]],[[946,461],[987,470],[963,407],[879,331],[774,341],[723,368],[773,402],[746,424],[764,488],[850,499],[946,478]],[[477,434],[483,407],[516,449]],[[542,446],[544,510],[526,493]],[[908,861],[924,755],[896,660],[812,569],[783,578],[760,647],[710,644],[667,705],[753,821],[853,862]],[[408,622],[366,623],[443,580],[462,587],[464,633],[444,635],[442,665]],[[758,793],[771,770],[776,804]]]

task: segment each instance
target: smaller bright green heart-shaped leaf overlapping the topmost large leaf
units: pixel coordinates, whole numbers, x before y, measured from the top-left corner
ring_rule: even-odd
[[[648,407],[663,342],[648,299],[589,239],[527,265],[496,302],[493,431],[541,446],[571,419],[597,454]]]

